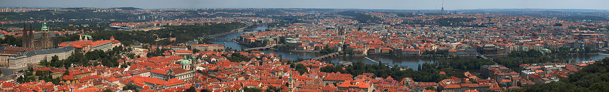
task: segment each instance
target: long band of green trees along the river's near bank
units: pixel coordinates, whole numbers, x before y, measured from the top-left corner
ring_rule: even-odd
[[[353,76],[360,75],[362,73],[374,73],[373,77],[387,77],[391,76],[393,79],[401,80],[403,77],[411,77],[415,81],[420,82],[439,82],[442,79],[448,79],[448,76],[463,77],[462,72],[452,70],[472,70],[479,69],[482,65],[493,65],[495,62],[486,59],[442,59],[436,61],[434,64],[424,63],[419,65],[418,70],[415,71],[412,68],[406,70],[400,70],[400,67],[387,67],[382,64],[364,64],[363,62],[354,62],[353,65],[348,67],[337,66],[326,66],[320,68],[322,72],[340,72],[348,73]],[[398,66],[398,65],[394,65]],[[343,68],[345,68],[343,70]],[[445,68],[442,69],[441,68]],[[444,71],[446,74],[438,74],[440,71]]]

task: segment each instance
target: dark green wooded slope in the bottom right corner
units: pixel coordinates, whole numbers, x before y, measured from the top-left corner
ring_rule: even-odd
[[[609,91],[609,58],[584,67],[566,79],[515,91]]]

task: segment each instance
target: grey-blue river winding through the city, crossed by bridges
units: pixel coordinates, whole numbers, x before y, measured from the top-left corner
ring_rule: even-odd
[[[260,30],[266,29],[266,28],[267,27],[256,27],[256,29],[260,29]],[[231,35],[219,36],[217,38],[235,38],[243,33],[245,33],[245,32],[242,31],[242,32],[231,34]],[[251,46],[237,44],[230,40],[211,41],[211,42],[213,42],[214,44],[220,44],[220,45],[226,43],[225,47],[227,47],[227,48],[230,47],[235,50],[240,50],[241,48],[243,48],[243,49],[252,48]],[[264,50],[264,53],[266,53],[266,54],[275,53],[277,55],[281,55],[281,57],[283,57],[284,59],[290,59],[290,60],[296,60],[298,58],[303,58],[303,59],[314,58],[314,57],[323,55],[319,52],[310,53],[310,52],[283,51],[283,50]],[[395,57],[395,56],[378,56],[378,55],[368,56],[368,57],[370,59],[374,59],[375,61],[381,61],[382,63],[386,63],[388,65],[392,65],[392,66],[400,65],[400,66],[404,66],[404,67],[408,67],[408,68],[413,68],[414,70],[417,70],[419,64],[423,64],[425,62],[433,63],[435,61],[434,59],[421,58],[421,57]],[[564,57],[558,57],[557,60],[560,60],[560,61],[571,61],[571,60],[596,61],[596,60],[604,59],[605,57],[609,57],[609,54],[564,56]],[[338,64],[338,62],[340,62],[340,61],[351,61],[351,62],[362,61],[365,64],[377,64],[377,62],[370,61],[370,59],[367,59],[362,56],[342,56],[342,57],[336,57],[336,58],[332,59],[331,62],[334,62],[334,64]]]

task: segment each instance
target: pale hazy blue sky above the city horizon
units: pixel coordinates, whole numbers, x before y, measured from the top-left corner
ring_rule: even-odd
[[[0,0],[0,7],[440,9],[442,0]],[[445,0],[445,10],[579,8],[609,10],[609,0]]]

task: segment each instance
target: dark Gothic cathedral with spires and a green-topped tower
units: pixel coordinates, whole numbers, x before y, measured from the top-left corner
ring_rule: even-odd
[[[23,47],[26,48],[42,48],[49,49],[55,48],[60,43],[59,39],[56,38],[54,32],[50,32],[49,28],[46,27],[46,22],[43,23],[42,28],[38,33],[33,31],[32,25],[30,24],[30,28],[26,30],[26,25],[23,25],[23,37],[21,41],[23,41]]]

